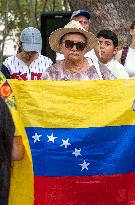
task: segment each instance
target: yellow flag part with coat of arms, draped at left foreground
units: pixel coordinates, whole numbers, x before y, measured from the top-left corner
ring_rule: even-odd
[[[17,110],[14,93],[3,74],[0,73],[0,96],[7,103],[16,126],[16,136],[22,136],[25,146],[25,156],[21,161],[14,161],[11,168],[11,186],[9,205],[33,205],[33,165],[29,142]],[[28,182],[29,179],[29,182]],[[2,204],[1,204],[2,205]]]

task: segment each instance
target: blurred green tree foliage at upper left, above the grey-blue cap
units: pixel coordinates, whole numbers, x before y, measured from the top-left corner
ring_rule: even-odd
[[[1,61],[7,38],[16,39],[27,26],[40,28],[41,13],[68,10],[67,0],[0,0]]]

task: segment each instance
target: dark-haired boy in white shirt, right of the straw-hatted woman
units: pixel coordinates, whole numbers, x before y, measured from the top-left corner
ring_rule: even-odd
[[[99,39],[99,60],[105,64],[117,79],[128,79],[129,75],[124,66],[114,59],[117,53],[118,38],[111,30],[101,30],[97,34]]]

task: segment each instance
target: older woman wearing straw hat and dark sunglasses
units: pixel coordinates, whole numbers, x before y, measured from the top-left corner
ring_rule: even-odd
[[[65,59],[53,64],[42,75],[50,80],[89,80],[114,79],[106,66],[100,64],[95,69],[92,62],[84,57],[85,53],[98,44],[98,39],[86,31],[79,22],[70,21],[64,28],[52,32],[49,38],[51,49],[63,53]]]

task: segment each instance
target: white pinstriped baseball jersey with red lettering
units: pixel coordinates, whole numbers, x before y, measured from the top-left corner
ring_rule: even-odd
[[[42,73],[53,64],[52,60],[46,56],[40,55],[35,59],[30,66],[27,66],[16,55],[6,58],[3,62],[2,73],[10,73],[12,79],[22,80],[40,80]],[[6,76],[6,75],[5,75]]]

